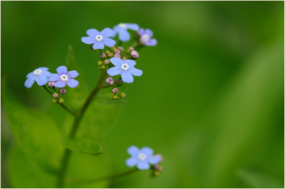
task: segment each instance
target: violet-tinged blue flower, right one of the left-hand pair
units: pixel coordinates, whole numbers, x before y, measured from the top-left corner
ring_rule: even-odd
[[[57,74],[51,74],[48,77],[48,81],[56,81],[53,85],[55,87],[64,87],[65,85],[68,85],[71,88],[74,88],[78,85],[78,81],[76,81],[75,77],[77,77],[79,74],[77,71],[67,71],[66,66],[59,66],[57,68]]]

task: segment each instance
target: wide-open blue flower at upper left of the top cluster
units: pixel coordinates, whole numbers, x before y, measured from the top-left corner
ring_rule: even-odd
[[[109,39],[114,33],[111,28],[105,28],[101,32],[96,29],[89,29],[86,31],[88,37],[82,37],[81,41],[86,44],[93,44],[93,49],[104,49],[104,44],[108,47],[112,47],[116,44],[116,41]]]

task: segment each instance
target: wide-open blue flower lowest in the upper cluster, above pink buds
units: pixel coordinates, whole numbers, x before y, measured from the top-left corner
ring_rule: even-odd
[[[134,76],[141,76],[142,71],[140,69],[134,68],[134,60],[122,60],[120,58],[111,58],[110,62],[115,65],[107,70],[107,74],[110,76],[121,74],[122,80],[125,83],[133,83]]]

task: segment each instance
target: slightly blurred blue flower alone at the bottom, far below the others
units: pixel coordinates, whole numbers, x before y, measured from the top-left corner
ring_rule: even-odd
[[[153,156],[153,150],[150,147],[142,147],[139,149],[136,146],[130,146],[127,150],[132,157],[126,160],[128,167],[137,165],[140,170],[147,170],[150,168],[150,164],[154,165],[160,162],[159,156]]]

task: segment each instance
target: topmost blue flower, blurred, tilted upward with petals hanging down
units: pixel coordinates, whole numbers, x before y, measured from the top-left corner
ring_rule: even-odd
[[[130,34],[127,29],[132,29],[134,31],[138,31],[140,29],[138,24],[135,23],[119,23],[118,25],[113,27],[114,34],[111,38],[114,38],[117,33],[119,33],[119,40],[126,42],[130,40]]]

